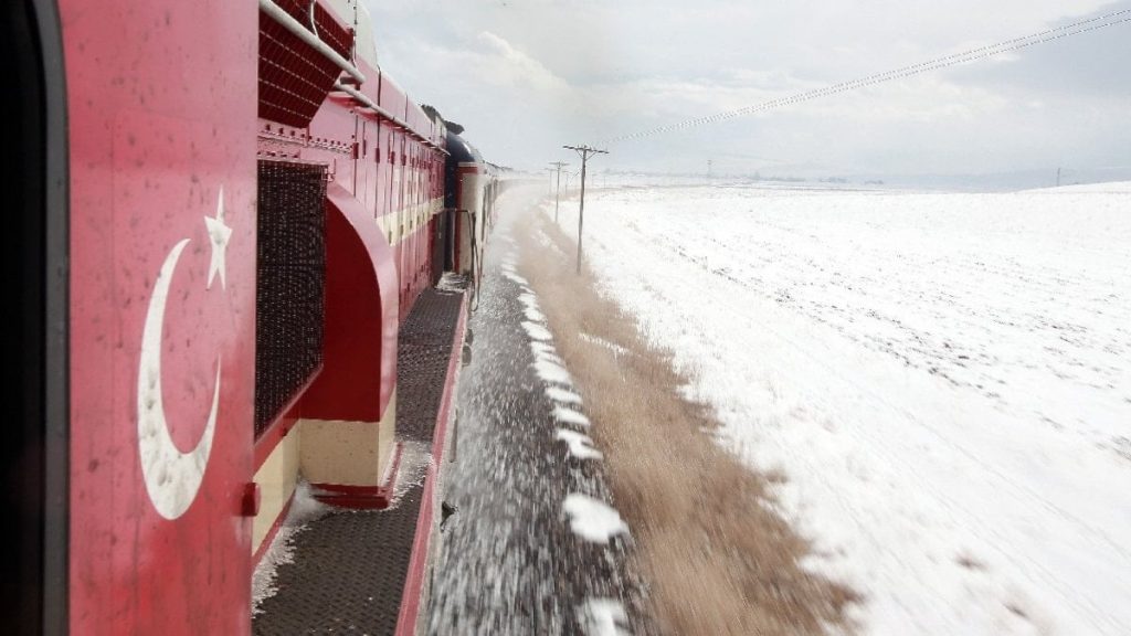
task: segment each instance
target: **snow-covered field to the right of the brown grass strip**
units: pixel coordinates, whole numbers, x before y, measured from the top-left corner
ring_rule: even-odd
[[[610,188],[585,224],[862,633],[1131,634],[1131,187]]]

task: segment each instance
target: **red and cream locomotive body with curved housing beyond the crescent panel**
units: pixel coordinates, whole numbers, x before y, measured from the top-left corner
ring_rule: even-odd
[[[426,266],[417,263],[413,223],[424,162],[413,158],[440,151],[429,146],[433,123],[412,121],[415,105],[396,83],[364,59],[356,65],[366,81],[354,94],[329,93],[305,129],[284,130],[290,151],[260,138],[261,157],[327,165],[335,192],[327,218],[345,223],[327,227],[325,364],[309,392],[271,424],[285,435],[257,441],[257,470],[273,484],[256,521],[257,552],[271,539],[296,472],[338,502],[378,506],[386,496],[382,478],[395,450],[396,326],[423,290],[415,272]],[[351,393],[365,407],[343,410]],[[259,450],[267,445],[274,447]]]

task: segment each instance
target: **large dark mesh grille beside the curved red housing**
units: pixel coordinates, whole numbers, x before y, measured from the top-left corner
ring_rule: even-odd
[[[259,162],[256,435],[322,363],[326,167]]]

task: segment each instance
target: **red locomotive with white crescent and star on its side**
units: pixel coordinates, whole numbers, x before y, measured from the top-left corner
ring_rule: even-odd
[[[3,11],[9,617],[248,633],[300,480],[387,502],[398,328],[475,278],[499,171],[381,68],[359,0]]]

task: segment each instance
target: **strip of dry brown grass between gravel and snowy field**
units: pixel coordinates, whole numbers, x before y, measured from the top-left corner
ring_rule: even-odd
[[[616,507],[670,634],[852,633],[854,591],[801,567],[810,545],[772,512],[769,485],[714,440],[689,378],[632,317],[575,274],[576,243],[543,214],[516,227],[519,270],[536,292],[604,452]],[[757,352],[751,352],[756,355]]]

